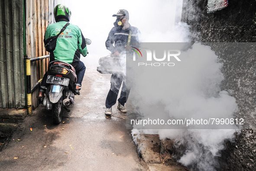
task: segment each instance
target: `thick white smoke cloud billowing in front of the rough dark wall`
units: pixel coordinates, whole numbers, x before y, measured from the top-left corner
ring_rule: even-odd
[[[177,15],[172,13],[172,16]],[[186,23],[170,22],[169,25],[165,27],[168,29],[164,30],[149,29],[146,35],[142,32],[143,41],[190,41],[189,26]],[[201,54],[198,54],[199,51]],[[228,92],[220,89],[220,84],[224,80],[221,73],[223,64],[214,51],[208,46],[197,43],[183,58],[181,57],[181,61],[182,64],[175,66],[172,72],[160,74],[146,70],[139,73],[131,91],[131,93],[136,92],[139,99],[132,99],[136,102],[138,112],[152,119],[156,119],[161,114],[162,118],[172,119],[205,116],[233,118],[237,110],[236,100]],[[148,75],[151,77],[149,78]],[[165,79],[172,80],[172,83],[165,84]],[[226,148],[224,143],[227,140],[231,142],[234,140],[236,127],[228,130],[219,130],[218,125],[211,130],[189,128],[188,130],[137,130],[135,125],[132,134],[152,133],[159,134],[160,139],[175,139],[176,146],[186,147],[185,152],[179,156],[179,162],[191,169],[215,171],[219,168],[218,157],[221,155],[221,150]],[[137,136],[134,136],[135,141],[136,138]]]

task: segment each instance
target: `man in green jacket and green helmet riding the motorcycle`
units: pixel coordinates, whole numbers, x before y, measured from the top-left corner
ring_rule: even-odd
[[[48,25],[45,31],[45,40],[48,38],[58,35],[61,29],[67,22],[69,22],[71,16],[71,11],[68,7],[58,4],[54,8],[54,18],[55,23]],[[87,55],[87,47],[85,43],[85,38],[76,25],[69,24],[64,32],[62,32],[56,42],[55,50],[50,52],[50,62],[54,60],[61,60],[66,63],[70,63],[74,66],[77,83],[76,83],[76,93],[80,95],[80,87],[84,78],[85,66],[80,60],[80,54],[84,57]],[[44,97],[44,92],[48,84],[46,83],[47,74],[44,75],[41,83],[41,89],[39,90],[39,99]]]

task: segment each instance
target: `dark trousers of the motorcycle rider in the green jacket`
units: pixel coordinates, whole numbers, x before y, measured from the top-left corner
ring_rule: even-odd
[[[72,63],[71,63],[71,65],[72,65]],[[84,66],[84,63],[82,61],[79,61],[79,63],[76,66],[73,66],[73,67],[75,68],[75,74],[77,75],[76,85],[81,87],[86,67]],[[41,88],[39,90],[40,92],[45,92],[46,88],[49,86],[49,84],[46,83],[47,75],[48,74],[45,73],[45,75],[42,79]]]

